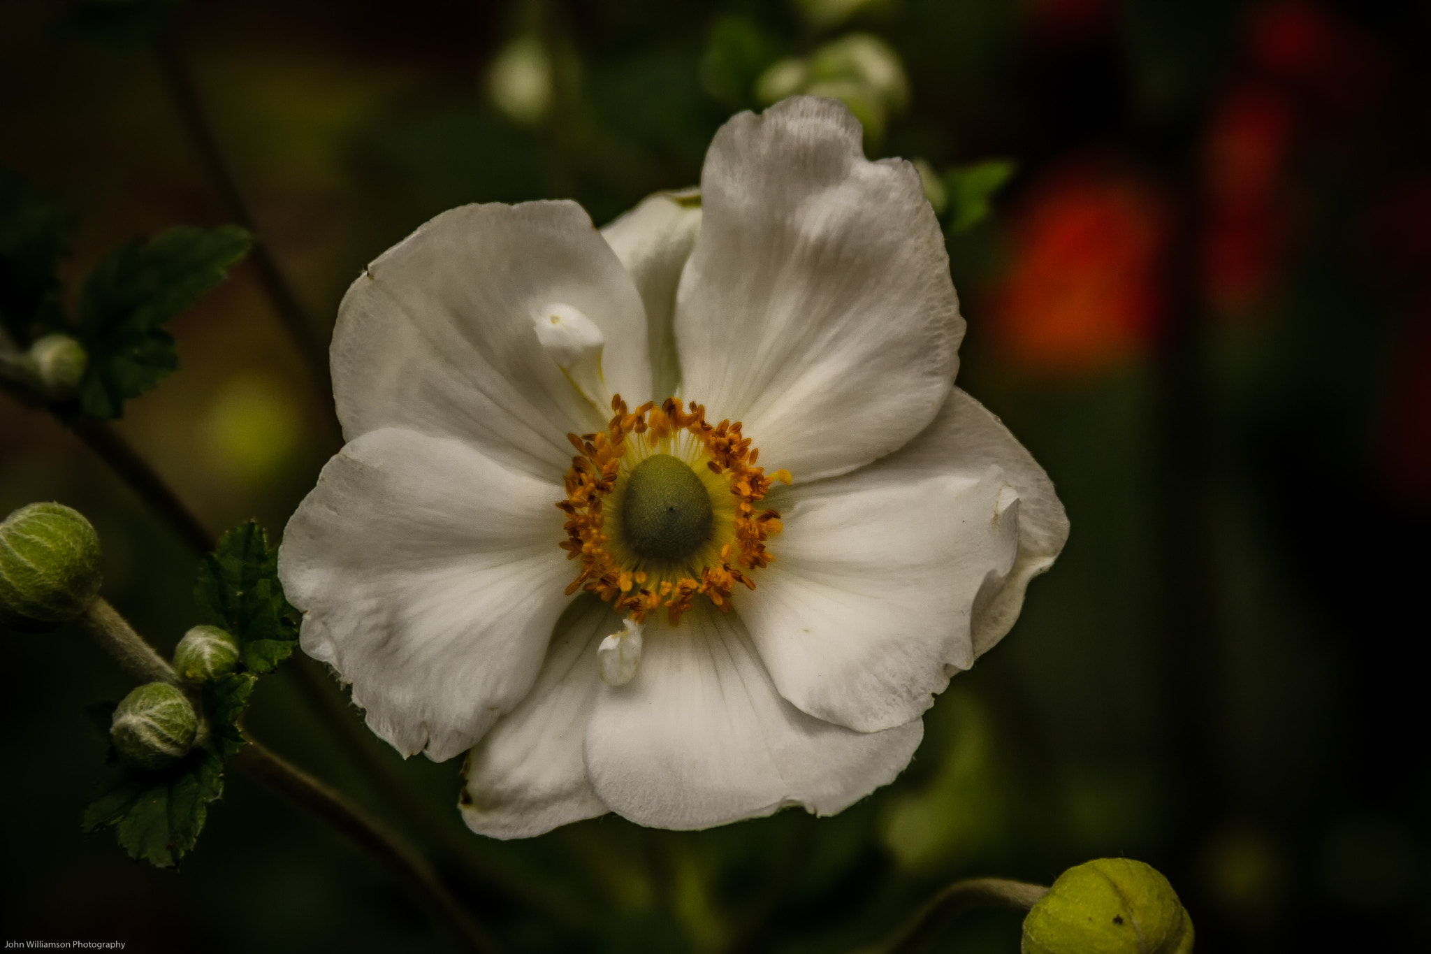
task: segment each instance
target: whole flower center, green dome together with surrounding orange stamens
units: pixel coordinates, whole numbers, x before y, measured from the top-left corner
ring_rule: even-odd
[[[740,422],[707,423],[705,408],[674,398],[634,412],[617,395],[604,433],[567,435],[577,456],[567,471],[568,559],[581,572],[567,588],[594,592],[635,622],[664,606],[674,624],[705,596],[730,609],[731,589],[756,588],[750,572],[773,559],[766,541],[780,513],[757,511],[774,481]]]

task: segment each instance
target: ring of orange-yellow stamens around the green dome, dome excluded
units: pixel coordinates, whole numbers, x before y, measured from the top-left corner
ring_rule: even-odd
[[[628,410],[617,395],[611,409],[605,432],[567,435],[577,456],[567,471],[567,499],[557,503],[568,518],[561,548],[567,559],[581,561],[567,592],[597,594],[637,622],[664,606],[674,625],[697,596],[728,611],[736,584],[754,589],[751,571],[774,559],[766,541],[780,532],[780,513],[756,503],[776,481],[790,483],[790,472],[767,475],[740,422],[707,423],[705,408],[694,400],[688,410],[674,398]],[[631,472],[655,455],[685,463],[710,493],[710,536],[680,559],[643,556],[621,526]]]

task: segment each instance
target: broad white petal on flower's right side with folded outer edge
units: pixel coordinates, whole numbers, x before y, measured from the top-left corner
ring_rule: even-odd
[[[929,708],[1068,538],[1047,475],[957,389],[897,453],[766,502],[784,531],[737,609],[784,698],[863,731]]]

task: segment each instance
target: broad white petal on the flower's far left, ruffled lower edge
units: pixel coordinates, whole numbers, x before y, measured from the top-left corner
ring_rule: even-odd
[[[537,678],[570,598],[562,488],[385,428],[323,468],[283,532],[302,646],[404,755],[471,748]]]

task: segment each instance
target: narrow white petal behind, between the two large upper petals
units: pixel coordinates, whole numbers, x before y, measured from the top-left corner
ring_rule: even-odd
[[[651,352],[651,393],[657,400],[674,395],[681,383],[675,358],[675,286],[685,259],[691,257],[701,229],[701,193],[697,189],[658,192],[641,200],[601,235],[615,250],[641,292],[647,340]],[[633,405],[634,406],[634,405]]]

